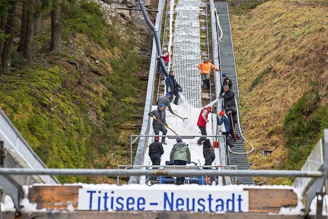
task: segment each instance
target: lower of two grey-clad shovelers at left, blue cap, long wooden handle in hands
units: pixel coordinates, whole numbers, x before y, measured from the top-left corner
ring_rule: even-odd
[[[163,133],[162,135],[166,135],[166,133],[168,132],[166,127],[169,126],[166,122],[166,114],[165,114],[164,106],[162,104],[159,104],[158,109],[149,112],[148,115],[150,117],[153,117],[153,129],[155,135],[159,135],[159,131]],[[165,136],[162,137],[160,143],[162,143],[163,145],[167,145],[167,143],[165,142]]]

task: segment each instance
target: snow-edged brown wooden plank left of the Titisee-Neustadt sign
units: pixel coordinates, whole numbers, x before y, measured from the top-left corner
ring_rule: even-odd
[[[29,200],[37,203],[37,209],[67,210],[69,204],[77,209],[80,188],[82,186],[33,186],[29,188]]]

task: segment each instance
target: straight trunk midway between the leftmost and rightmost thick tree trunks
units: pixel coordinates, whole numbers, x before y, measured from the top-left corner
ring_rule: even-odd
[[[26,39],[24,57],[28,62],[33,60],[34,53],[34,23],[35,23],[35,0],[27,0]]]

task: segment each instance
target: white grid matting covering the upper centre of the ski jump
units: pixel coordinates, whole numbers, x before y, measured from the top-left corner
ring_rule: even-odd
[[[172,70],[186,102],[201,108],[199,19],[200,0],[180,0],[175,8]],[[183,101],[179,99],[179,104]]]

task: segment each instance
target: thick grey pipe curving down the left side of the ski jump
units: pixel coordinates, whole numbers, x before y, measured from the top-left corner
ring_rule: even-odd
[[[146,8],[144,3],[142,2],[142,0],[138,0],[138,4],[140,6],[142,15],[144,15],[145,20],[148,24],[148,26],[152,29],[152,31],[154,32],[154,36],[155,36],[155,42],[156,42],[156,47],[157,47],[157,54],[162,54],[162,50],[161,50],[161,46],[160,46],[160,39],[159,39],[159,33],[158,30],[155,28],[155,26],[153,25],[153,23],[150,21],[148,14],[146,12]],[[165,74],[165,76],[169,76],[169,71],[166,68],[165,64],[164,64],[164,60],[162,58],[158,59],[158,64],[161,66],[162,68],[162,73]]]

